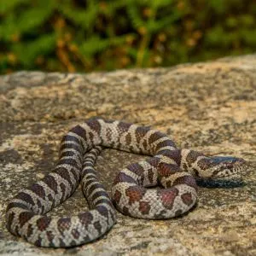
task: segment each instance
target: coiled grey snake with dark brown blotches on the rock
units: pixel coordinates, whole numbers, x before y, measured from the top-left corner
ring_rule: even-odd
[[[102,148],[145,154],[113,180],[111,196],[95,169]],[[74,247],[102,237],[116,223],[115,208],[134,218],[166,219],[195,206],[196,177],[233,177],[246,161],[177,148],[161,131],[119,120],[91,118],[62,137],[59,160],[43,179],[21,189],[6,209],[7,229],[38,247]],[[111,171],[111,170],[109,170]],[[52,208],[81,184],[90,210],[53,217]]]

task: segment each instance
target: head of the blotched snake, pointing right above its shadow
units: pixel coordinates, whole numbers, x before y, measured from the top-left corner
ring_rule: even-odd
[[[246,161],[232,156],[212,156],[208,159],[212,178],[232,177],[246,169]]]

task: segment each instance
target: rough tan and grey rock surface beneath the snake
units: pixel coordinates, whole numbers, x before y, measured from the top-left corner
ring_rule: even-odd
[[[0,253],[22,255],[256,255],[256,55],[171,68],[0,77]],[[92,116],[166,131],[178,146],[249,162],[243,183],[200,188],[181,218],[148,221],[118,213],[101,240],[70,249],[34,247],[5,228],[9,199],[54,167],[61,136]],[[106,149],[96,169],[105,187],[141,155]],[[51,214],[86,208],[78,189]]]

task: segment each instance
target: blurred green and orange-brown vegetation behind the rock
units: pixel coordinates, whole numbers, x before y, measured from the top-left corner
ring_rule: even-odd
[[[255,51],[254,0],[0,0],[0,73],[165,67]]]

